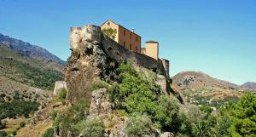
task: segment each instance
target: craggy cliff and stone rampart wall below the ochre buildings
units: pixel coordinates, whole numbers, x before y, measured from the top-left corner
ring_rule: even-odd
[[[116,79],[116,68],[121,62],[132,62],[136,67],[158,71],[161,87],[166,90],[168,79],[161,61],[145,54],[123,48],[119,43],[102,34],[94,25],[72,27],[70,34],[71,56],[64,70],[67,83],[67,100],[73,103],[81,97],[90,99],[90,85],[101,78],[106,82]]]

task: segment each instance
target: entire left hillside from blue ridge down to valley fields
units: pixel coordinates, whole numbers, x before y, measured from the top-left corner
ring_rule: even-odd
[[[46,106],[55,81],[63,79],[63,63],[45,49],[0,34],[0,132],[15,133]]]

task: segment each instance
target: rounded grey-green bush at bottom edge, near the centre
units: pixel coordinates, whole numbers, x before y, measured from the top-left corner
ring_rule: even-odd
[[[129,117],[129,121],[125,126],[125,133],[129,137],[150,135],[150,128],[152,126],[152,122],[148,116],[136,114],[133,117]]]

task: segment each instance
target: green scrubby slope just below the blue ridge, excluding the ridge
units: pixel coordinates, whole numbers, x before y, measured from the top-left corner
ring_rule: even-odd
[[[25,83],[28,86],[44,89],[53,89],[55,81],[62,79],[61,64],[47,63],[45,60],[36,60],[22,56],[9,48],[9,45],[0,43],[0,76]]]

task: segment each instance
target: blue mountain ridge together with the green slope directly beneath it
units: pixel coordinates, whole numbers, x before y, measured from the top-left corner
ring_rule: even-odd
[[[15,38],[0,37],[0,77],[48,90],[53,90],[55,81],[63,79],[63,61],[54,54]]]

